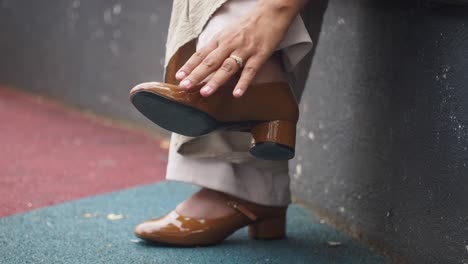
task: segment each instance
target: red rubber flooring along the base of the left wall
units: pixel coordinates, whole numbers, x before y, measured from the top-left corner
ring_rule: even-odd
[[[160,181],[164,145],[0,86],[0,217]]]

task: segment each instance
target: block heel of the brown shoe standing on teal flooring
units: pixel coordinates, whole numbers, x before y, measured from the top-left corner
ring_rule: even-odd
[[[286,237],[286,216],[264,219],[249,225],[249,236],[256,239]]]

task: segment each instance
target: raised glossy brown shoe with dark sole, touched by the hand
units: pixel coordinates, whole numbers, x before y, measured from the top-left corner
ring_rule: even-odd
[[[167,83],[142,83],[130,98],[143,115],[171,132],[196,137],[217,129],[250,131],[255,157],[294,157],[299,110],[286,82],[252,85],[241,98],[234,98],[229,87],[203,97],[202,86],[185,91]]]

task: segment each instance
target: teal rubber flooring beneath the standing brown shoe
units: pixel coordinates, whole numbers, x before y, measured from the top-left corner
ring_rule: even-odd
[[[246,228],[213,247],[153,246],[133,236],[136,224],[170,211],[196,190],[161,182],[2,218],[0,262],[389,263],[298,205],[288,210],[284,240],[253,240]]]

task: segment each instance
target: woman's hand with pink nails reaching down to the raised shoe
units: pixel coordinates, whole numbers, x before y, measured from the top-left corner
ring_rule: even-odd
[[[259,0],[255,9],[239,22],[220,32],[190,57],[176,73],[179,86],[190,90],[213,74],[200,90],[210,96],[238,71],[233,95],[241,97],[257,71],[273,54],[306,0]],[[243,68],[230,56],[237,56]]]

